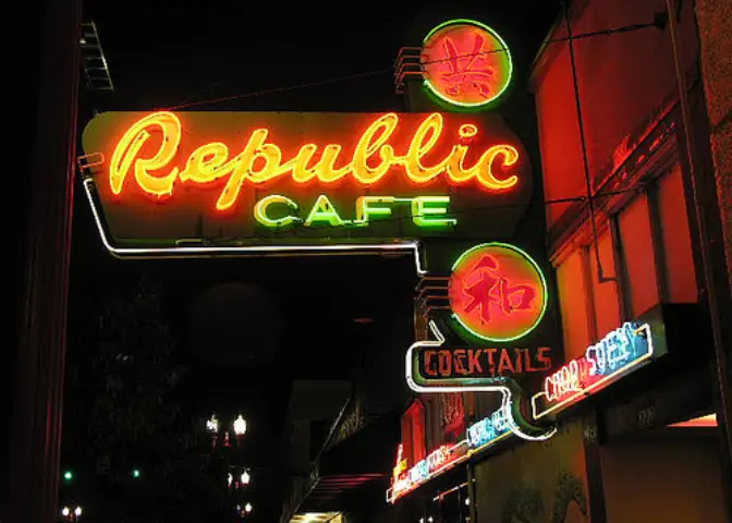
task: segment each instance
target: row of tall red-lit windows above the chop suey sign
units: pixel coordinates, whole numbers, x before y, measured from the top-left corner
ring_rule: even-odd
[[[697,301],[681,168],[646,188],[599,228],[599,256],[590,243],[557,267],[566,361],[660,302]]]

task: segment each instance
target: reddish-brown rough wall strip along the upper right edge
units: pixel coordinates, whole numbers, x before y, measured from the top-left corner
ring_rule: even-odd
[[[732,3],[697,0],[696,15],[717,193],[732,290]]]

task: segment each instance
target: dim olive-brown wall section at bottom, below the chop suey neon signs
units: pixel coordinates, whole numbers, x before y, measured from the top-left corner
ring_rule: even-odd
[[[488,458],[474,477],[477,523],[588,521],[581,423],[564,424],[548,441]]]

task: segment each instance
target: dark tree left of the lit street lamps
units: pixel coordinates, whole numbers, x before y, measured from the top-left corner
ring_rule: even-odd
[[[184,366],[161,302],[160,287],[144,278],[100,317],[87,447],[101,521],[218,521],[224,508],[225,464],[174,394]]]

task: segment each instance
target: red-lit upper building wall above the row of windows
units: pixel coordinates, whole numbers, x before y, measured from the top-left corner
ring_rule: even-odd
[[[664,0],[572,2],[572,34],[652,23]],[[696,35],[691,2],[683,2],[680,29],[685,66],[692,66]],[[586,194],[582,147],[566,31],[563,22],[549,35],[534,74],[541,162],[547,200]],[[674,96],[675,76],[668,29],[648,27],[575,39],[575,70],[587,161],[594,185],[625,160],[643,127]],[[570,207],[547,206],[548,227]]]

